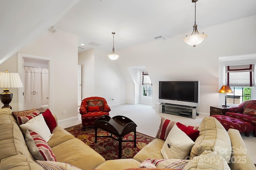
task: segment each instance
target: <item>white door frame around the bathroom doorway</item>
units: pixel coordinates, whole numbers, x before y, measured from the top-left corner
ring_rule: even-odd
[[[18,74],[20,75],[20,79],[23,81],[23,58],[30,59],[39,59],[48,61],[48,75],[49,75],[49,99],[48,99],[48,108],[53,108],[53,69],[52,69],[52,59],[49,57],[42,57],[36,55],[30,55],[25,53],[18,53]],[[24,98],[23,98],[23,88],[18,88],[18,109],[24,110]],[[33,109],[33,108],[31,108]],[[35,108],[37,109],[37,108]]]

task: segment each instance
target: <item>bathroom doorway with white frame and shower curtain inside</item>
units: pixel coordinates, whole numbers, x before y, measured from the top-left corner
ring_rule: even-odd
[[[50,61],[46,57],[18,53],[18,72],[23,84],[18,91],[19,110],[50,108]]]

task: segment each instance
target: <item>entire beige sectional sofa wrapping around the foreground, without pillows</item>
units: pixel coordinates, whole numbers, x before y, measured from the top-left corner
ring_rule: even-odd
[[[0,170],[44,170],[30,154],[24,135],[11,112],[10,109],[0,109]],[[191,160],[185,161],[187,163],[184,169],[199,170],[212,167],[213,169],[256,170],[240,133],[235,129],[230,129],[228,132],[223,129],[214,117],[203,119],[198,128],[200,134],[190,152]],[[100,154],[61,127],[55,127],[52,134],[47,143],[56,156],[56,161],[66,162],[82,170],[134,169],[143,167],[146,159],[164,160],[161,150],[165,141],[158,138],[140,150],[133,159],[106,161]],[[165,168],[166,165],[178,160],[169,159],[156,167]],[[74,167],[66,169],[74,169]]]

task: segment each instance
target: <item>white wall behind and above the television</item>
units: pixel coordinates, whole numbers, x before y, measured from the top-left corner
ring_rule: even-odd
[[[127,75],[127,67],[146,66],[153,84],[152,107],[158,102],[158,81],[199,80],[200,106],[197,110],[210,114],[210,106],[219,104],[218,57],[255,53],[255,21],[256,16],[251,16],[212,27],[199,27],[199,31],[207,33],[208,38],[197,47],[182,41],[190,34],[184,33],[121,49],[118,51],[118,67],[123,75]],[[130,80],[126,83],[129,85]]]

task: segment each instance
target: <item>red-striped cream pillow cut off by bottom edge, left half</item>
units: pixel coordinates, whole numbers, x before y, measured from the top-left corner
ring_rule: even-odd
[[[42,166],[45,170],[81,170],[80,168],[65,162],[36,160],[36,163]]]

